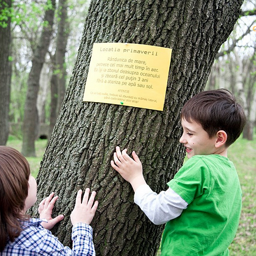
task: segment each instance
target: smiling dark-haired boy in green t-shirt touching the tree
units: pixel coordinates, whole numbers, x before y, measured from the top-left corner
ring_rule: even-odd
[[[146,184],[139,157],[116,147],[112,167],[131,185],[134,202],[154,224],[166,223],[161,255],[229,255],[241,212],[241,188],[228,147],[246,122],[241,105],[227,90],[191,98],[181,113],[189,160],[154,193]]]

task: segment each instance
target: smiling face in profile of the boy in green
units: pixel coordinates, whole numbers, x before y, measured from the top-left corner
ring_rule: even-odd
[[[195,121],[188,122],[182,118],[183,134],[180,142],[184,144],[188,158],[193,155],[209,155],[218,153],[215,147],[217,136],[209,138],[201,124]]]

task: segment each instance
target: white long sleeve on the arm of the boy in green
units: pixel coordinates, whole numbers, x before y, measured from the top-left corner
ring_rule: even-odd
[[[177,218],[188,206],[188,203],[172,189],[168,188],[156,194],[148,185],[141,185],[137,188],[134,203],[155,225]]]

